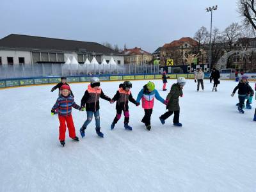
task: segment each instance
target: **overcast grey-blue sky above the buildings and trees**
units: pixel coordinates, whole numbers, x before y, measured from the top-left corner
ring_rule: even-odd
[[[201,26],[225,29],[240,22],[236,0],[1,0],[0,38],[11,33],[88,42],[153,52]]]

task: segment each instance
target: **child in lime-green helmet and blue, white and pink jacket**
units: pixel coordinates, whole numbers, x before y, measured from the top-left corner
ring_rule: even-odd
[[[136,99],[137,106],[140,105],[140,100],[142,99],[142,108],[145,111],[145,115],[143,116],[141,122],[143,122],[143,124],[146,125],[148,131],[150,131],[151,129],[150,117],[153,112],[155,97],[157,100],[165,104],[164,99],[159,95],[159,93],[155,89],[155,84],[149,81],[147,84],[143,86],[143,89],[140,91]]]

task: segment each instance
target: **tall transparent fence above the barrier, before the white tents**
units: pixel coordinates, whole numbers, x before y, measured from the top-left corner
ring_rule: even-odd
[[[83,76],[104,74],[158,74],[159,65],[92,65],[35,63],[0,65],[0,79],[20,77]]]

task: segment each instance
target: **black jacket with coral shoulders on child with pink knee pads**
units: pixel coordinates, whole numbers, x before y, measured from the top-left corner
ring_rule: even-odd
[[[133,104],[136,104],[136,100],[132,97],[130,90],[128,92],[125,91],[123,84],[120,84],[119,87],[112,100],[116,101],[116,109],[127,111],[129,109],[128,102],[131,101]]]

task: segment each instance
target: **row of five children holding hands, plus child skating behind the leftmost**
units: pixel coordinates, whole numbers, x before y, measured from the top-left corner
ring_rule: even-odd
[[[177,83],[172,85],[170,93],[168,93],[166,100],[164,100],[157,90],[155,89],[155,84],[148,82],[143,86],[140,93],[138,94],[137,99],[135,100],[132,97],[131,88],[132,83],[130,81],[124,81],[120,84],[118,91],[116,92],[113,99],[110,99],[106,96],[102,89],[100,88],[100,80],[98,77],[92,77],[91,83],[88,84],[88,89],[84,92],[83,98],[81,100],[81,106],[78,106],[74,102],[74,95],[71,95],[70,86],[66,82],[65,77],[61,77],[61,86],[60,83],[54,86],[51,90],[53,92],[56,88],[60,89],[60,96],[56,100],[56,103],[51,109],[51,114],[54,115],[58,110],[58,118],[60,121],[59,127],[59,140],[61,145],[65,145],[65,132],[66,132],[66,122],[69,132],[69,137],[74,141],[79,141],[76,136],[76,131],[74,127],[74,122],[72,118],[72,108],[78,109],[80,111],[86,111],[87,119],[84,122],[83,126],[80,129],[80,134],[82,138],[85,136],[85,130],[88,124],[92,122],[92,117],[95,117],[95,130],[98,136],[104,137],[104,134],[100,132],[100,114],[99,114],[99,99],[108,100],[110,103],[116,102],[116,116],[111,124],[111,129],[114,129],[116,123],[121,118],[122,112],[124,113],[124,128],[131,131],[132,127],[129,124],[129,106],[128,102],[132,102],[136,106],[140,106],[140,100],[142,102],[142,108],[145,111],[141,122],[143,122],[148,131],[151,129],[150,117],[152,115],[154,107],[154,99],[156,98],[160,102],[166,105],[168,111],[159,117],[162,124],[165,123],[164,120],[171,116],[174,113],[173,125],[182,126],[179,122],[179,97],[182,97],[182,88],[186,84],[186,79],[184,77],[179,77]],[[57,110],[56,110],[57,109]]]

